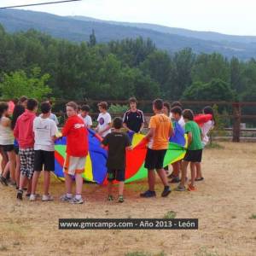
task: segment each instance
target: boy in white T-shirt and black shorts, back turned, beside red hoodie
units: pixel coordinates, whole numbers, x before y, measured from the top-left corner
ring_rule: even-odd
[[[50,119],[51,105],[49,102],[41,104],[42,114],[34,119],[33,131],[35,134],[35,161],[34,174],[32,177],[32,193],[30,201],[36,201],[36,189],[38,177],[44,166],[44,195],[42,201],[52,201],[53,197],[49,195],[50,172],[55,171],[55,135],[58,132],[57,125],[53,119]]]

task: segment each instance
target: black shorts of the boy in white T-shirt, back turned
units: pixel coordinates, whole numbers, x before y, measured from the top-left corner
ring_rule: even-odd
[[[43,170],[48,172],[55,171],[55,152],[35,150],[34,171],[40,172]]]

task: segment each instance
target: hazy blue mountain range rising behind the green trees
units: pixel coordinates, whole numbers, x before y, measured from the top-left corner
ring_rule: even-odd
[[[19,9],[0,10],[0,23],[8,32],[34,28],[47,32],[55,38],[65,38],[75,42],[87,41],[94,29],[99,43],[141,36],[151,38],[158,48],[166,49],[171,53],[190,47],[196,53],[215,51],[227,57],[236,55],[244,60],[256,56],[256,37],[193,32],[166,26],[119,23],[78,16],[62,17]]]

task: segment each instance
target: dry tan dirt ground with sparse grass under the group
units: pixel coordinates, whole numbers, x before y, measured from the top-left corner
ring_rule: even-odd
[[[127,184],[125,203],[106,201],[106,188],[84,184],[84,205],[61,203],[64,184],[52,178],[52,202],[16,201],[0,187],[0,255],[256,255],[256,144],[221,143],[204,151],[195,192],[141,199],[147,182]],[[172,185],[172,188],[175,186]],[[39,192],[42,191],[40,183]],[[199,230],[58,230],[59,218],[199,218]]]

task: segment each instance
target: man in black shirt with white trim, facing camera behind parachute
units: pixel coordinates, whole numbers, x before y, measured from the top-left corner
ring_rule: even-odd
[[[144,115],[143,111],[137,109],[137,99],[131,97],[129,99],[130,109],[125,112],[124,127],[128,131],[140,132],[144,127]]]

